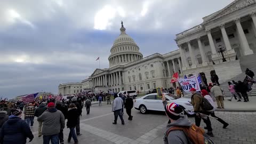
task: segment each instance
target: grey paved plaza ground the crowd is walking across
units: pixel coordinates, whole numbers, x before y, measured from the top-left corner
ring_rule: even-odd
[[[91,114],[86,115],[83,108],[81,117],[81,133],[78,137],[79,143],[163,143],[163,133],[167,123],[164,113],[149,113],[142,115],[138,110],[132,109],[133,121],[127,120],[124,114],[125,125],[121,124],[118,118],[117,125],[113,125],[114,115],[111,113],[112,105],[102,102],[102,107],[92,105]],[[222,125],[215,119],[211,119],[215,143],[256,143],[256,113],[217,111],[217,116],[228,122],[227,129],[222,129]],[[194,117],[189,118],[194,122]],[[43,143],[43,138],[38,138],[38,123],[31,127],[35,138],[30,143]],[[201,126],[205,124],[202,122]],[[64,140],[67,142],[69,129],[65,127]],[[74,143],[71,140],[70,143]]]

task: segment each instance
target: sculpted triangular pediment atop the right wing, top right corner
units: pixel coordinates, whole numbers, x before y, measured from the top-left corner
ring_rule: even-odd
[[[255,4],[256,0],[236,0],[234,2],[232,2],[231,4],[227,5],[226,7],[224,7],[223,9],[208,15],[207,17],[204,17],[203,20],[203,24],[211,22],[213,20],[219,19],[221,17],[224,17],[225,15],[228,15],[230,13],[233,13],[235,11],[241,10],[247,6],[250,6],[252,4]]]

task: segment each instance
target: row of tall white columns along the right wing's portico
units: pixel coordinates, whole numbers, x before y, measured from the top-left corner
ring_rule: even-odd
[[[253,23],[254,23],[254,27],[256,28],[256,14],[252,13],[251,17],[252,17],[252,20],[253,20]],[[243,55],[253,54],[253,51],[250,49],[249,43],[247,42],[247,39],[245,37],[243,28],[241,26],[240,18],[235,19],[234,22],[236,24],[237,33],[238,33],[239,41],[241,43],[241,49],[243,51]],[[225,24],[221,24],[219,26],[219,28],[221,30],[221,34],[222,34],[222,37],[223,37],[223,40],[224,40],[226,51],[232,50],[230,42],[229,42],[229,38],[228,38],[228,35],[227,35],[227,31],[225,29]],[[216,50],[216,47],[214,45],[214,41],[213,41],[212,34],[211,34],[211,29],[207,29],[206,34],[207,34],[207,37],[209,39],[209,44],[210,44],[210,47],[211,47],[212,54],[217,54],[217,50]],[[195,58],[193,47],[191,47],[191,41],[192,40],[190,40],[186,43],[187,43],[188,49],[189,49],[189,57],[191,58],[191,62],[192,62],[191,68],[196,68],[196,58]],[[206,66],[207,65],[207,60],[206,60],[205,52],[204,52],[204,49],[203,49],[203,46],[202,46],[201,37],[197,37],[197,43],[198,43],[198,48],[199,48],[199,51],[201,53],[201,57],[202,57],[202,61],[203,61],[202,65]],[[178,47],[179,47],[179,50],[180,50],[181,61],[182,61],[182,64],[183,64],[182,69],[187,69],[189,67],[189,65],[188,65],[188,61],[187,61],[186,56],[185,56],[185,50],[183,49],[182,44],[179,44]]]

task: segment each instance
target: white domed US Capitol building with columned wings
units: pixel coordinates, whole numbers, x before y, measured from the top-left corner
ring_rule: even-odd
[[[139,46],[126,34],[122,22],[121,34],[108,57],[109,68],[95,69],[82,82],[60,84],[59,93],[168,89],[178,86],[170,83],[176,72],[180,77],[205,73],[207,83],[211,83],[210,71],[215,70],[219,82],[226,82],[242,73],[240,59],[256,53],[255,3],[256,0],[236,0],[204,17],[200,25],[177,34],[178,50],[144,58]],[[222,61],[220,50],[226,62]]]

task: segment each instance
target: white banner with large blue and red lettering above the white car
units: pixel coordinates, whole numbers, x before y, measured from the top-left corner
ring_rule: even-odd
[[[192,89],[192,88],[195,88],[196,91],[201,91],[200,89],[200,85],[199,85],[199,82],[198,82],[198,79],[196,76],[191,76],[191,77],[188,77],[188,78],[179,78],[178,79],[178,82],[180,83],[183,91],[189,93],[189,90]]]

